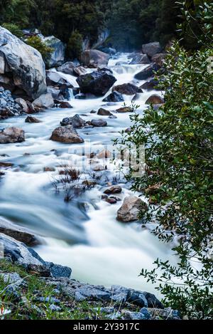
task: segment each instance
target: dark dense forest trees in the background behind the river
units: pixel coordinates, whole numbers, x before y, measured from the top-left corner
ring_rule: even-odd
[[[181,2],[183,14],[187,9],[192,16],[200,15],[202,0]],[[94,43],[104,29],[111,32],[107,45],[120,50],[138,49],[155,40],[165,46],[176,36],[176,24],[182,21],[188,32],[185,46],[193,48],[197,42],[190,36],[190,26],[199,31],[197,22],[181,15],[180,3],[173,0],[0,0],[0,24],[39,28],[45,36],[53,34],[69,43],[69,54],[84,38],[90,45]]]

